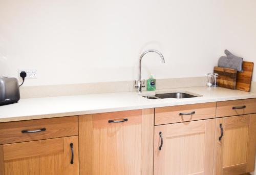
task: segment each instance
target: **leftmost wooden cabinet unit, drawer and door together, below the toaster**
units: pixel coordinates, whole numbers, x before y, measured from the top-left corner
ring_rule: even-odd
[[[77,135],[78,116],[0,123],[0,175],[78,175]]]

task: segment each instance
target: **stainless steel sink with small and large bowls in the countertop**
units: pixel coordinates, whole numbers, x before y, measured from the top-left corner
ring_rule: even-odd
[[[165,94],[156,94],[155,96],[143,96],[148,99],[162,99],[162,98],[194,98],[199,97],[187,93],[165,93]]]

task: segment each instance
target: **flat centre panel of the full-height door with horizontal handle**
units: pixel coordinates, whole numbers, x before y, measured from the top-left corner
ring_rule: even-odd
[[[93,120],[97,120],[97,117],[93,115]],[[127,118],[130,116],[127,115]],[[109,126],[93,127],[92,174],[141,173],[141,123],[129,121],[128,124],[111,123]]]

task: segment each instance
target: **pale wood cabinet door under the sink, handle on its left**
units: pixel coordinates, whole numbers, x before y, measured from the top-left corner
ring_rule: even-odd
[[[215,121],[155,126],[154,174],[212,174]]]

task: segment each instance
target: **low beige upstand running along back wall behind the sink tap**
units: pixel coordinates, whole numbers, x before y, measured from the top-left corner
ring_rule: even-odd
[[[157,79],[156,90],[205,86],[205,83],[206,77]],[[143,90],[146,90],[146,88]],[[20,88],[20,97],[40,98],[132,91],[137,91],[134,88],[134,81],[115,81],[81,84],[24,86]]]

